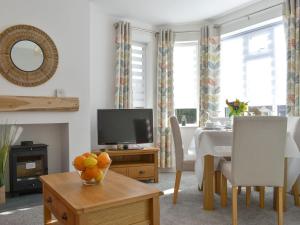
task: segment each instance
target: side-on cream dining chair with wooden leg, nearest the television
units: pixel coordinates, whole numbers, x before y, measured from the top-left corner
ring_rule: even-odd
[[[174,186],[173,204],[177,202],[178,190],[180,186],[181,174],[183,171],[194,171],[195,160],[184,159],[184,148],[181,138],[181,132],[178,120],[175,116],[170,117],[170,124],[173,134],[173,141],[175,146],[175,159],[176,159],[176,178]]]

